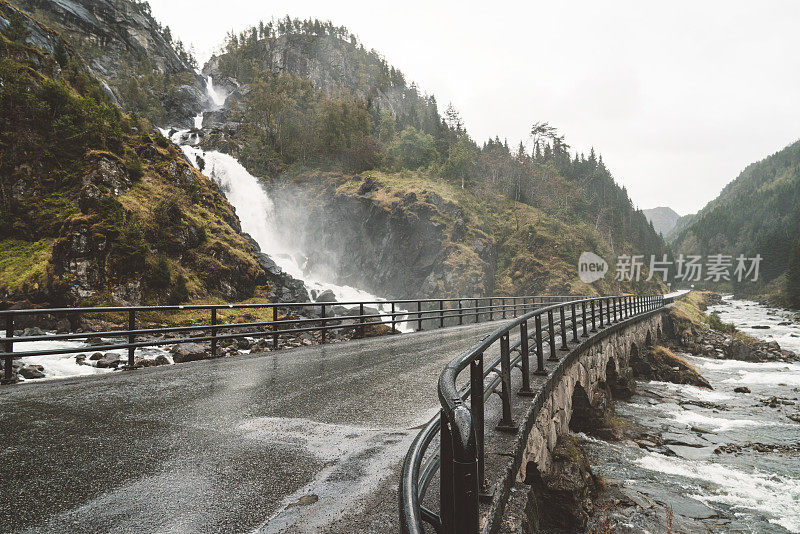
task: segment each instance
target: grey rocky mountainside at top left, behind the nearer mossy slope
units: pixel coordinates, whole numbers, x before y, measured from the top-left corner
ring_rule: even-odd
[[[207,106],[196,61],[138,0],[15,0],[58,31],[128,111],[158,126],[192,125]]]

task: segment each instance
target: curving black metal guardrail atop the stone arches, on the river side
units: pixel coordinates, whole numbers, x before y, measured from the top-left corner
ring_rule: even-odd
[[[452,360],[439,376],[441,410],[425,425],[411,444],[403,463],[399,488],[400,531],[422,534],[424,524],[441,534],[477,534],[479,499],[488,495],[484,485],[484,407],[498,393],[502,416],[497,428],[516,431],[511,417],[511,369],[522,372],[521,396],[534,396],[530,387],[530,342],[535,345],[534,375],[547,375],[543,343],[549,346],[549,361],[559,361],[557,352],[568,351],[572,342],[590,332],[622,320],[662,308],[672,301],[663,295],[585,298],[549,305],[509,321],[461,356]],[[543,325],[542,321],[546,320]],[[529,330],[529,322],[533,328]],[[556,322],[558,329],[556,329]],[[519,329],[519,341],[510,343]],[[560,338],[557,348],[556,336]],[[485,365],[486,354],[499,341],[500,354]],[[516,355],[512,358],[512,352]],[[469,382],[456,385],[459,374],[469,368]],[[490,374],[494,378],[485,381]],[[498,391],[499,388],[499,391]],[[466,401],[469,399],[469,406]],[[439,450],[429,451],[436,436]],[[426,453],[427,460],[426,460]],[[423,463],[424,462],[424,463]],[[423,506],[428,487],[439,472],[439,511]]]

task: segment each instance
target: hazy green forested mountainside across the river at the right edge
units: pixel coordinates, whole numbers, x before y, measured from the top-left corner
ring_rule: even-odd
[[[742,293],[776,293],[800,306],[800,141],[748,165],[674,241],[679,252],[761,254],[761,285]]]

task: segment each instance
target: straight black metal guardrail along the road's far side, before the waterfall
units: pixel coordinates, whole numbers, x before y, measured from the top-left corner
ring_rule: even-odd
[[[495,319],[517,317],[521,313],[553,302],[572,300],[574,296],[564,295],[530,295],[519,297],[486,297],[457,299],[417,299],[363,302],[292,302],[264,304],[201,304],[186,306],[117,306],[95,308],[39,308],[28,310],[0,311],[0,324],[5,322],[5,337],[0,337],[0,359],[4,360],[5,373],[3,381],[12,379],[13,358],[26,356],[48,356],[57,354],[73,354],[85,352],[83,348],[39,349],[14,352],[18,343],[37,341],[72,341],[90,340],[102,337],[127,339],[125,343],[103,345],[103,350],[128,350],[127,367],[134,366],[134,353],[137,348],[177,345],[181,343],[210,342],[211,356],[216,357],[218,344],[222,340],[250,338],[272,338],[274,348],[278,347],[283,336],[302,334],[304,332],[320,332],[320,341],[325,343],[328,332],[351,329],[363,337],[365,329],[375,325],[390,325],[396,331],[401,324],[412,329],[443,328],[456,324],[478,323]],[[357,315],[336,315],[331,311],[341,308],[358,309]],[[372,312],[371,310],[377,310]],[[218,320],[220,310],[266,310],[271,312],[271,320],[245,323],[222,323]],[[292,318],[292,312],[318,312],[318,317]],[[185,312],[207,311],[209,323],[190,326],[171,326],[155,328],[137,328],[137,315],[152,312]],[[84,315],[127,314],[127,328],[119,330],[74,332],[63,334],[44,334],[31,336],[15,336],[15,321],[21,317],[56,315],[73,319]],[[195,333],[196,335],[191,335]],[[161,334],[180,334],[178,337],[165,339],[142,340],[143,336]],[[138,338],[138,340],[137,340]]]

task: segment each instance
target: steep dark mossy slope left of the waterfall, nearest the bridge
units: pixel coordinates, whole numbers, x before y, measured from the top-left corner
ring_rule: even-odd
[[[266,283],[216,184],[0,1],[0,298],[241,299]]]

